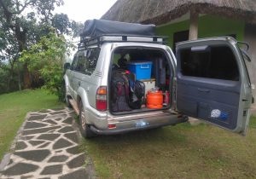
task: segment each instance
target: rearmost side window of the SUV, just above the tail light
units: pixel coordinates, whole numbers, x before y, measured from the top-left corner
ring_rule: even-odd
[[[95,71],[100,52],[101,52],[100,48],[88,49],[87,55],[86,55],[87,61],[86,61],[86,70],[85,70],[85,72],[88,75],[92,74]]]

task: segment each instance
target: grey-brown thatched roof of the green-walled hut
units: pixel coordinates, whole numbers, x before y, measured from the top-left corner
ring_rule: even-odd
[[[102,19],[160,25],[191,9],[256,24],[256,0],[118,0]]]

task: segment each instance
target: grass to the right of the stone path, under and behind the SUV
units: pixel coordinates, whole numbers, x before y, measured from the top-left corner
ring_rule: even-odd
[[[84,140],[100,178],[256,178],[256,118],[247,136],[177,124]]]

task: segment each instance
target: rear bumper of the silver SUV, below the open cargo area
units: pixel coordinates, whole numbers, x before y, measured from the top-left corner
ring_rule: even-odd
[[[179,123],[184,123],[188,121],[187,116],[177,117],[177,115],[172,114],[169,118],[141,118],[137,120],[123,121],[123,122],[113,122],[109,124],[116,124],[115,129],[108,130],[100,130],[97,129],[96,126],[90,125],[90,130],[98,135],[115,135],[115,134],[123,134],[131,131],[137,130],[148,130],[153,128],[158,128],[166,125],[175,125]],[[139,125],[139,124],[145,125]]]

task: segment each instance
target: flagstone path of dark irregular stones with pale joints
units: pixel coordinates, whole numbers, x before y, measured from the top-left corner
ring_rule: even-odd
[[[29,113],[0,178],[88,178],[72,115],[69,109]]]

